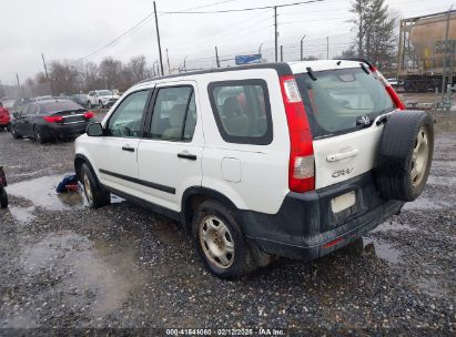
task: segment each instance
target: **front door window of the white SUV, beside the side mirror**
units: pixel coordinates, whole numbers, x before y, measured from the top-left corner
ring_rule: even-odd
[[[149,92],[149,90],[134,92],[119,104],[108,122],[110,135],[120,137],[141,136],[141,121]]]

